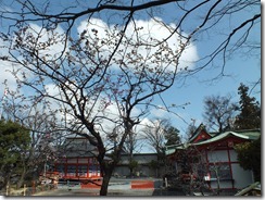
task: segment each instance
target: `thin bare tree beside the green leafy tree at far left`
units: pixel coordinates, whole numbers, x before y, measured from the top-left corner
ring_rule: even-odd
[[[16,187],[21,188],[25,178],[36,178],[43,172],[47,163],[58,159],[59,147],[63,143],[65,134],[56,127],[56,116],[49,104],[26,100],[23,95],[9,92],[3,107],[3,117],[18,122],[30,134],[29,148],[22,152],[21,173]],[[65,130],[64,130],[65,132]]]

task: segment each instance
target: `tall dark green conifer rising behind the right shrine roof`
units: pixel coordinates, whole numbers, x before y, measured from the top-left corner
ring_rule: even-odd
[[[235,129],[261,128],[261,107],[254,97],[250,97],[249,87],[240,84],[240,113],[236,117]]]

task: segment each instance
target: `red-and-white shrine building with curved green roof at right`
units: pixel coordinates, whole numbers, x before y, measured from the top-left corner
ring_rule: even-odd
[[[168,147],[166,154],[179,175],[203,177],[212,189],[241,189],[254,183],[254,176],[239,165],[234,147],[260,136],[260,129],[210,134],[201,124],[187,143]]]

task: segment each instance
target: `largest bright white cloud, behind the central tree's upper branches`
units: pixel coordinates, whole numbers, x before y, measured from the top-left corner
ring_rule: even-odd
[[[88,37],[90,40],[96,42],[103,41],[103,45],[100,43],[100,50],[105,59],[112,54],[116,47],[116,42],[119,39],[117,35],[122,29],[123,27],[121,26],[108,26],[106,23],[99,18],[90,18],[89,23],[83,21],[77,28],[80,36],[83,35],[81,33],[84,33],[84,36]],[[180,41],[185,42],[186,40],[180,38],[179,35],[173,34],[175,29],[176,26],[174,24],[166,26],[162,24],[161,18],[130,22],[125,33],[124,42],[119,46],[114,59],[126,61],[126,59],[124,59],[126,53],[130,53],[130,57],[135,58],[136,61],[137,59],[142,59],[142,62],[144,61],[149,67],[162,65],[164,68],[167,67],[167,70],[174,71],[177,62],[175,61],[172,63],[172,60],[176,59],[177,52],[180,50]],[[185,33],[182,33],[182,35],[187,36]],[[159,46],[164,39],[167,39],[167,46]],[[112,40],[116,41],[111,42]],[[161,51],[161,49],[163,50]],[[134,57],[131,54],[134,54],[135,51],[136,55]],[[157,61],[157,57],[161,57],[161,63],[154,64],[154,62]],[[197,61],[198,58],[197,47],[191,42],[186,47],[186,50],[180,57],[178,70],[193,67],[193,62]],[[135,67],[135,65],[139,63],[129,64],[129,60],[127,60],[126,64],[130,67]]]

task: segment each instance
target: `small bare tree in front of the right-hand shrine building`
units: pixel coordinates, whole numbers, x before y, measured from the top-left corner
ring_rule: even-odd
[[[175,184],[180,186],[188,195],[193,195],[194,191],[200,191],[203,196],[205,191],[211,191],[214,195],[220,193],[220,179],[223,176],[229,176],[222,171],[227,166],[222,164],[220,159],[217,157],[209,161],[206,154],[215,152],[216,147],[204,148],[197,147],[195,145],[187,146],[186,148],[176,150],[175,161],[178,165],[178,178],[175,179]],[[211,163],[210,163],[211,162]],[[210,188],[210,179],[216,178],[216,188]]]

